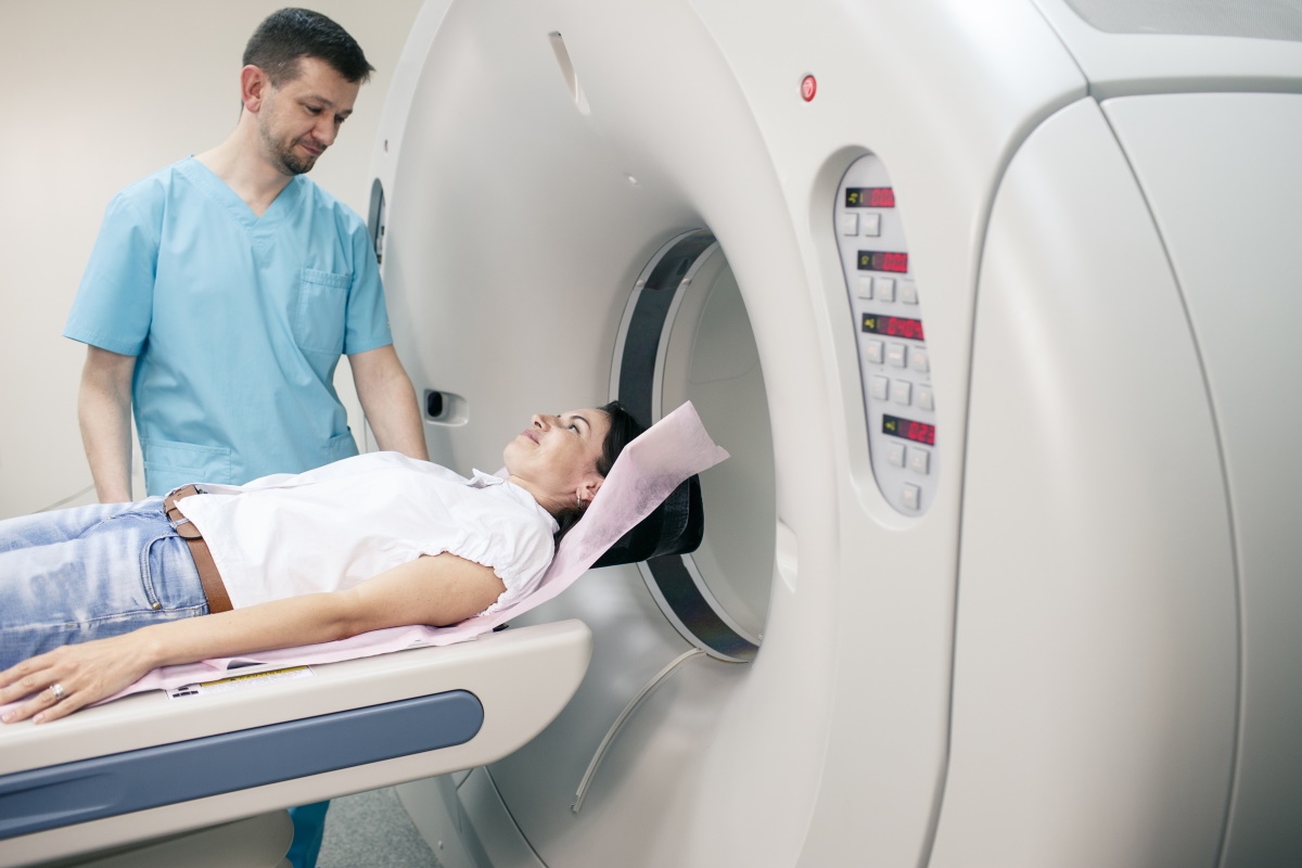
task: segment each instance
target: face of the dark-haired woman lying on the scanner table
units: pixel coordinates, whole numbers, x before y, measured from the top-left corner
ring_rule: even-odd
[[[533,424],[506,444],[503,461],[513,478],[536,489],[535,495],[573,506],[577,498],[591,500],[600,487],[596,459],[609,429],[611,419],[600,410],[536,414]]]

